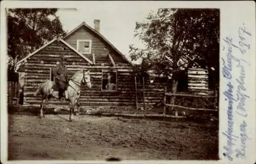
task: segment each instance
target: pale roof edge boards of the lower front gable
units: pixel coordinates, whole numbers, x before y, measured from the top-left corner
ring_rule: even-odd
[[[50,45],[51,43],[53,43],[54,41],[56,41],[57,38],[54,38],[53,40],[51,40],[50,42],[46,43],[45,45],[41,46],[40,48],[38,48],[37,50],[35,50],[34,52],[30,53],[27,57],[23,58],[22,60],[17,62],[17,67],[16,67],[16,71],[18,70],[20,64],[22,64],[22,62],[24,62],[25,60],[27,60],[28,58],[32,57],[35,53],[37,53],[38,51],[40,51],[41,49],[47,47],[48,45]],[[63,39],[59,39],[59,41],[61,41],[63,44],[65,44],[66,46],[68,46],[69,48],[71,48],[74,52],[76,52],[81,58],[83,58],[84,60],[86,60],[88,63],[93,64],[92,61],[90,61],[87,57],[84,57],[79,51],[77,51],[74,47],[72,47],[71,45],[69,45],[67,42],[65,42]]]

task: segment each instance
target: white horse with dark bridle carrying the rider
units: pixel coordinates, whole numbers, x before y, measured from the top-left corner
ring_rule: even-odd
[[[49,100],[49,94],[55,98],[58,98],[58,91],[52,89],[54,84],[54,81],[47,80],[45,83],[39,85],[34,94],[34,96],[42,96],[42,101],[40,104],[40,118],[45,117],[43,109],[44,105],[46,104],[46,100]],[[90,81],[90,70],[79,70],[69,80],[69,86],[65,91],[66,99],[69,101],[70,105],[69,121],[72,121],[74,118],[74,105],[77,103],[77,100],[80,96],[80,89],[85,88],[86,84],[88,88],[92,88]]]

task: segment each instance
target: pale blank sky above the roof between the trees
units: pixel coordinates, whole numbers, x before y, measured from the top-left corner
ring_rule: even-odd
[[[142,48],[143,44],[134,38],[136,21],[143,22],[150,12],[157,8],[146,6],[127,6],[105,4],[99,6],[82,6],[82,8],[59,9],[56,13],[65,31],[71,31],[82,21],[94,28],[94,20],[100,19],[100,33],[108,39],[126,57],[129,54],[129,45]]]

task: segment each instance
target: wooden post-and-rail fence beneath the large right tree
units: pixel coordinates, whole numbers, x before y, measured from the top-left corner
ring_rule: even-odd
[[[192,102],[189,102],[187,100],[184,100],[179,102],[179,104],[168,104],[167,102],[167,96],[180,96],[180,97],[191,97],[191,98],[201,98],[201,99],[214,99],[214,101],[210,101],[211,105],[215,106],[214,108],[200,108],[200,107],[190,107]],[[176,98],[177,99],[177,98]],[[166,113],[166,107],[177,107],[177,108],[182,108],[184,110],[193,110],[193,111],[214,111],[218,112],[218,107],[217,106],[217,96],[216,95],[196,95],[196,94],[181,94],[181,93],[167,93],[166,87],[164,88],[164,107],[163,107],[163,115]],[[186,106],[184,106],[182,103],[186,101],[188,102]],[[192,100],[194,101],[194,100]],[[202,100],[204,102],[204,100]],[[197,102],[195,102],[197,103]],[[189,106],[189,107],[188,107]],[[193,106],[193,105],[192,105]],[[176,114],[177,115],[177,111]]]

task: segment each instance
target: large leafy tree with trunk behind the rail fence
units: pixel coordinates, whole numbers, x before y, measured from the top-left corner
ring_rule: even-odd
[[[146,22],[136,22],[134,36],[145,49],[130,45],[130,56],[147,59],[153,69],[172,76],[172,92],[176,93],[180,72],[196,63],[219,72],[219,14],[219,9],[158,9]],[[156,54],[159,58],[152,60]]]

